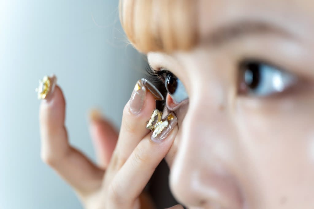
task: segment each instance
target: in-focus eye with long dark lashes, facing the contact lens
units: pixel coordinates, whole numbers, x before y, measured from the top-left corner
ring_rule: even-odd
[[[169,70],[165,68],[161,68],[159,71],[148,69],[148,73],[164,83],[165,90],[169,93],[172,102],[175,104],[179,104],[188,99],[187,91],[183,83]]]

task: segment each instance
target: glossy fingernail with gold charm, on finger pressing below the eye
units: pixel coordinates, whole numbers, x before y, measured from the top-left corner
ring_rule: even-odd
[[[166,117],[158,122],[155,126],[156,128],[154,128],[154,131],[150,137],[151,140],[153,142],[160,143],[168,136],[171,130],[176,126],[177,122],[178,120],[173,112],[166,115]]]

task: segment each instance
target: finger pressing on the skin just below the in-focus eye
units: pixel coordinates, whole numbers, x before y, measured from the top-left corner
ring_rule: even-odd
[[[155,168],[169,151],[178,130],[176,123],[174,116],[158,136],[152,137],[154,133],[148,134],[134,149],[112,181],[109,190],[112,206],[133,206]],[[160,141],[156,143],[157,140]]]

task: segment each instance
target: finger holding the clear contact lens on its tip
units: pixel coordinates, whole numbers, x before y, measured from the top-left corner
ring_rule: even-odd
[[[149,133],[147,120],[156,107],[156,100],[163,100],[161,93],[146,79],[139,80],[130,100],[123,109],[122,124],[113,161],[120,168],[139,141]]]

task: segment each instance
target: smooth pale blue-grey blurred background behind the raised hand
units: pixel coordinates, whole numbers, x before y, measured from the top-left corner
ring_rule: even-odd
[[[70,143],[95,159],[87,113],[100,107],[118,128],[143,60],[126,44],[118,0],[0,0],[1,209],[82,208],[40,159],[38,80],[57,75]]]

